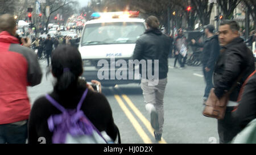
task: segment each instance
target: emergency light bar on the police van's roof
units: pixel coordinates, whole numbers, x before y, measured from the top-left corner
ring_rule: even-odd
[[[139,11],[119,11],[119,12],[94,12],[91,15],[92,19],[106,18],[131,18],[138,17]]]

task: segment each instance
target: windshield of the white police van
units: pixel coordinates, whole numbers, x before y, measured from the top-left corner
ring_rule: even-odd
[[[86,24],[81,46],[134,44],[145,30],[144,24],[139,22]]]

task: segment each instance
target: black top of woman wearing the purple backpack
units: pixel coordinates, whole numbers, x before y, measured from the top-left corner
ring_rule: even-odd
[[[61,94],[54,89],[49,95],[64,108],[75,109],[85,89],[85,86],[79,86],[67,94]],[[114,124],[112,109],[104,95],[88,90],[81,110],[98,131],[106,131],[113,140],[117,138],[119,131]],[[28,120],[28,143],[40,143],[39,137],[45,137],[47,144],[52,143],[53,133],[48,129],[47,119],[51,115],[60,113],[61,111],[57,110],[45,96],[36,99]]]

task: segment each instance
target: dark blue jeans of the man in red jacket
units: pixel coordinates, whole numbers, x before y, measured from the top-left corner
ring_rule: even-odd
[[[27,123],[23,125],[0,124],[0,144],[25,144]]]

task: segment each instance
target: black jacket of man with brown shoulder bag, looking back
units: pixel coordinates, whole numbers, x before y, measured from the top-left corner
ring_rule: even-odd
[[[243,73],[242,79],[229,96],[229,100],[236,102],[242,83],[254,70],[253,52],[246,47],[241,37],[237,37],[221,49],[214,69],[214,93],[218,98],[221,98]]]

